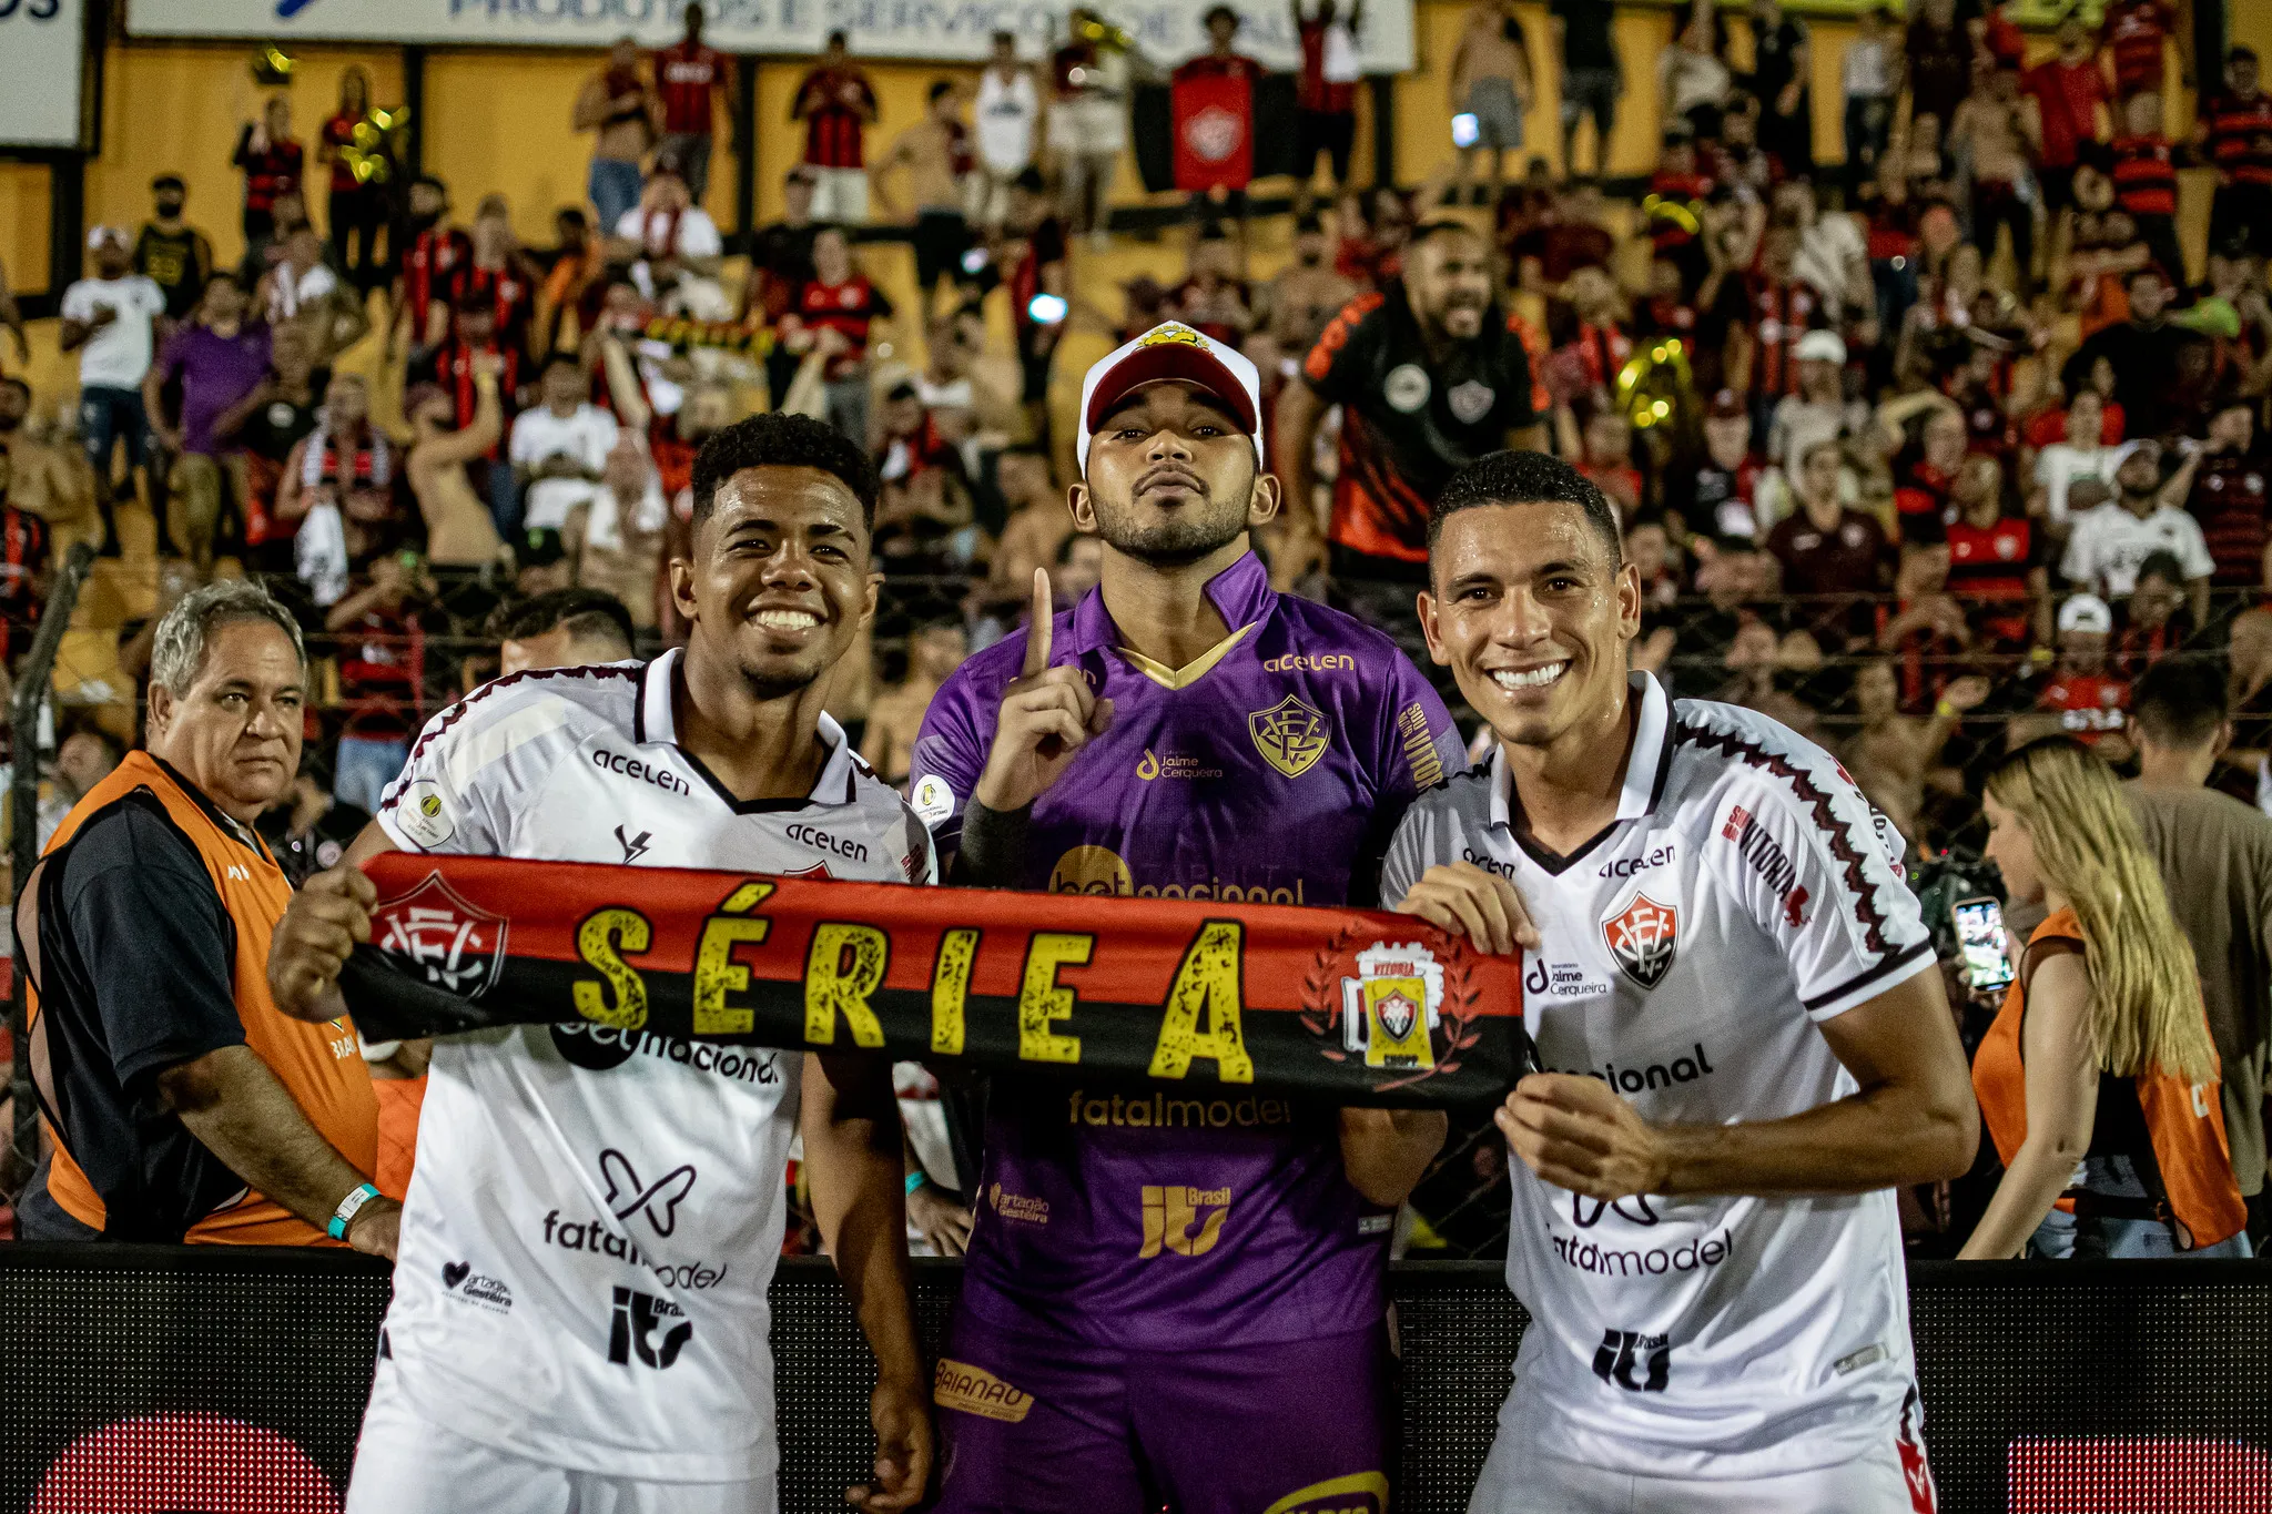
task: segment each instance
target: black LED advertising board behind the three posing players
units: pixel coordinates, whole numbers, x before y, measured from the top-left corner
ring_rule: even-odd
[[[918,1262],[927,1346],[957,1276]],[[1456,1514],[1525,1314],[1493,1264],[1390,1276],[1393,1507]],[[2272,1267],[1918,1264],[1911,1303],[1943,1509],[2272,1509]],[[384,1307],[386,1269],[329,1251],[0,1246],[0,1514],[336,1512]],[[772,1307],[782,1509],[834,1514],[872,1366],[827,1262]]]

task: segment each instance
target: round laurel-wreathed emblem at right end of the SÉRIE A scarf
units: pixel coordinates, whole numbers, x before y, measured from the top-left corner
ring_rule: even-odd
[[[1445,969],[1420,942],[1359,940],[1338,937],[1302,983],[1302,1024],[1327,1042],[1322,1053],[1406,1074],[1381,1087],[1459,1071],[1459,1053],[1479,1037],[1465,962]]]

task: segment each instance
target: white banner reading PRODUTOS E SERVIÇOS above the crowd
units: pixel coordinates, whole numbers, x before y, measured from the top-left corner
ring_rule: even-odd
[[[1100,9],[1156,64],[1206,50],[1202,18],[1213,0],[1109,0]],[[1281,0],[1241,0],[1231,9],[1243,20],[1241,52],[1279,70],[1300,66],[1300,39]],[[293,39],[607,48],[625,34],[673,43],[682,11],[684,0],[130,0],[127,32],[284,48]],[[982,61],[995,32],[1013,32],[1025,57],[1041,57],[1066,30],[1063,0],[713,0],[704,11],[713,48],[763,54],[813,54],[841,30],[866,57]],[[1409,73],[1413,0],[1365,5],[1356,52],[1365,73]]]

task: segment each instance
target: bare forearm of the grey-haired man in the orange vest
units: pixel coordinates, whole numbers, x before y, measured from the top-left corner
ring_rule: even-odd
[[[250,1046],[223,1046],[159,1074],[159,1096],[254,1192],[316,1226],[366,1183]]]

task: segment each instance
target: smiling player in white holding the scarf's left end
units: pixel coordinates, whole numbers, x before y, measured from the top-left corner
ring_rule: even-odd
[[[875,493],[868,456],[802,415],[704,443],[691,556],[670,563],[684,654],[520,672],[427,724],[277,933],[286,1012],[334,1012],[370,937],[357,865],[379,851],[934,881],[922,822],[820,708],[875,615]],[[891,1067],[720,1071],[586,1026],[434,1042],[348,1507],[775,1509],[766,1285],[800,1108],[813,1210],[879,1362],[877,1480],[852,1503],[911,1507],[932,1439]]]

